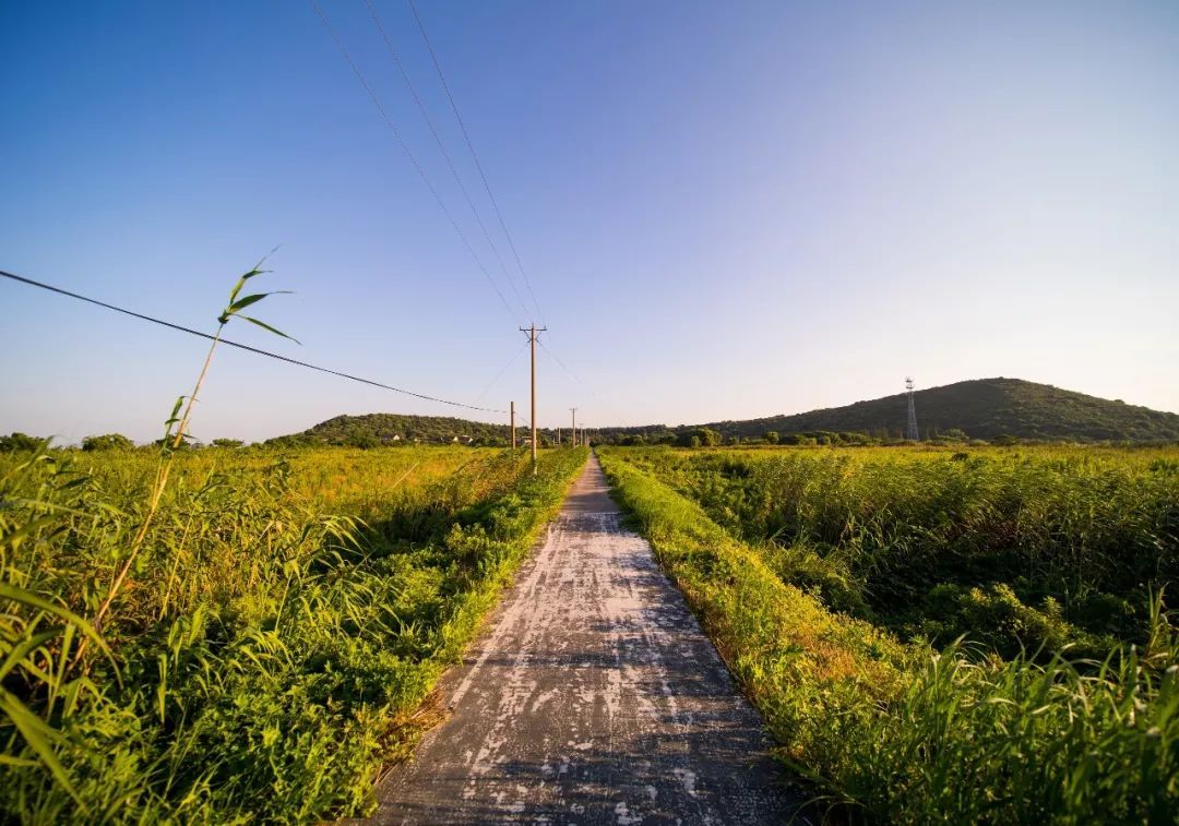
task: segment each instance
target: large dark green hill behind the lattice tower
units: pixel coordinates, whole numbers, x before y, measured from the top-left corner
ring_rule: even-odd
[[[982,378],[918,390],[915,404],[922,438],[957,429],[971,438],[986,440],[1016,436],[1049,441],[1179,441],[1179,415],[1019,378]],[[712,422],[703,427],[719,431],[725,438],[757,438],[771,430],[782,436],[842,431],[896,438],[904,432],[907,416],[905,395],[897,394],[843,408],[811,410],[793,416]],[[608,434],[608,441],[617,441],[627,435],[645,434],[650,442],[690,429],[661,425],[619,428],[602,435]]]

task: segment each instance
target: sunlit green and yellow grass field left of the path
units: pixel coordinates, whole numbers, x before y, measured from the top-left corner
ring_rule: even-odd
[[[5,819],[365,811],[584,461],[180,450],[147,520],[156,451],[0,455]]]

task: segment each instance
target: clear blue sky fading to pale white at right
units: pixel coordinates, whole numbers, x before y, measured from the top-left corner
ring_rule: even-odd
[[[495,230],[408,6],[374,1]],[[364,1],[321,4],[511,312],[295,0],[0,0],[0,269],[211,331],[281,244],[263,280],[296,295],[257,315],[302,346],[230,337],[523,409],[525,312]],[[1179,4],[419,9],[578,377],[541,351],[542,424],[797,412],[908,374],[1179,410]],[[0,432],[152,438],[204,355],[9,282],[0,306]],[[463,415],[231,350],[202,401],[204,440]]]

